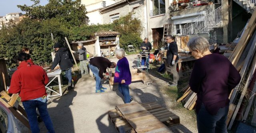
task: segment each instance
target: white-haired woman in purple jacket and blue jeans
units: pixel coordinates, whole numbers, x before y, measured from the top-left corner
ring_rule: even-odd
[[[132,82],[132,75],[129,62],[125,57],[124,49],[116,50],[116,58],[119,60],[116,64],[114,82],[118,83],[118,90],[124,96],[124,103],[130,103],[133,100],[129,92],[129,84]]]

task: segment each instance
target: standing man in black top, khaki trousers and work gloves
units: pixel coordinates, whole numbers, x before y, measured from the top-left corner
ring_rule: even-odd
[[[177,86],[178,80],[180,78],[178,72],[177,72],[177,63],[179,60],[178,56],[178,46],[177,43],[174,41],[175,37],[172,37],[172,35],[166,35],[165,37],[166,43],[167,43],[167,63],[166,66],[169,66],[171,68],[171,72],[173,74],[173,84],[171,86]]]

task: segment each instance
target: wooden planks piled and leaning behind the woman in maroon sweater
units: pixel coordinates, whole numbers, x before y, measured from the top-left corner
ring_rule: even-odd
[[[236,38],[228,50],[230,50],[229,54],[225,56],[242,77],[240,83],[230,93],[230,107],[226,121],[228,129],[232,129],[235,121],[247,121],[252,126],[256,126],[256,11],[244,27],[241,37]],[[194,93],[189,86],[182,91],[184,95],[177,102],[184,100],[186,102],[184,107],[191,109],[193,105],[191,102],[196,99]]]

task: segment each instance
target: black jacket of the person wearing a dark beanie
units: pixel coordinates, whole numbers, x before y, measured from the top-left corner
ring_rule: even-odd
[[[51,69],[53,70],[58,64],[60,65],[61,70],[68,70],[73,66],[66,48],[61,47],[57,51]]]

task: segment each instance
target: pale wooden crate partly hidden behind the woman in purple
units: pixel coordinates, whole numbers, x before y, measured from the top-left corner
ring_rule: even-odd
[[[146,84],[147,77],[146,77],[146,72],[140,68],[138,69],[132,69],[130,70],[132,74],[132,82],[133,81],[142,81],[144,84]],[[114,72],[112,70],[109,71],[110,80],[109,84],[112,86],[114,84]]]

